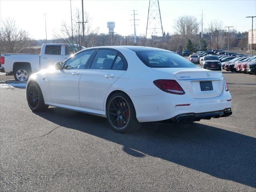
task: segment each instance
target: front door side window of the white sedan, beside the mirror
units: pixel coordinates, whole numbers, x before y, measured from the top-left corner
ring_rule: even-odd
[[[63,69],[83,69],[83,68],[85,68],[86,63],[88,62],[92,52],[94,52],[94,50],[84,51],[84,52],[81,52],[81,53],[75,55],[74,57],[67,60],[62,68]]]

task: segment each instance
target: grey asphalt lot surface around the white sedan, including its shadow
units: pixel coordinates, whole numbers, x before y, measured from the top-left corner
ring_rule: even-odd
[[[0,191],[255,191],[256,76],[224,72],[233,114],[146,123],[118,134],[105,118],[32,112],[0,88]]]

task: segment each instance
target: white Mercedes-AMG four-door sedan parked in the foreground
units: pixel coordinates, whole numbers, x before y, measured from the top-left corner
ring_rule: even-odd
[[[199,68],[174,52],[140,46],[82,50],[32,74],[26,99],[107,118],[116,132],[140,122],[194,122],[232,114],[222,73]]]

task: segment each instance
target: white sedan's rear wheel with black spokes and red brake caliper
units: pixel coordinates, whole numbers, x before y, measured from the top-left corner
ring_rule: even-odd
[[[140,127],[132,101],[122,92],[109,98],[106,113],[108,123],[118,133],[134,132]]]

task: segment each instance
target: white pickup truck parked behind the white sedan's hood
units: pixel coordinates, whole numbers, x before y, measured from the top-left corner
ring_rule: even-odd
[[[78,46],[75,44],[46,43],[42,45],[41,54],[3,53],[0,72],[14,74],[16,81],[26,81],[32,73],[64,61],[76,52]]]

